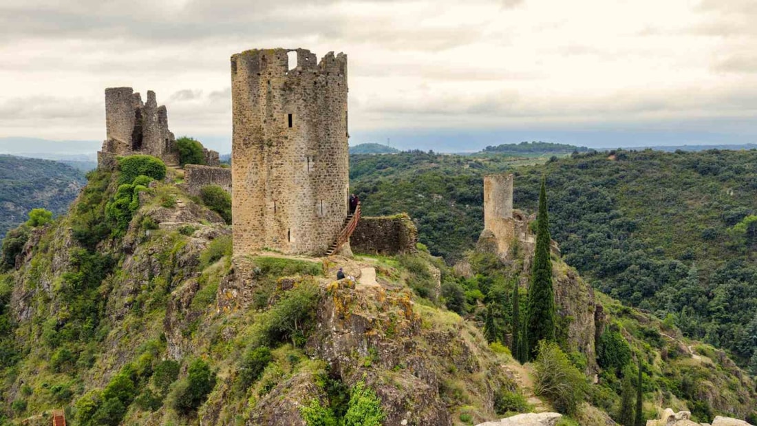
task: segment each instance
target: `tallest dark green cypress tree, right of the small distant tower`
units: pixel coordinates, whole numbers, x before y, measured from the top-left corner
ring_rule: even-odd
[[[555,295],[552,288],[552,259],[550,258],[550,219],[547,216],[547,179],[541,180],[539,215],[537,216],[536,250],[531,266],[531,285],[528,287],[528,319],[526,338],[528,357],[534,359],[540,340],[555,340]]]

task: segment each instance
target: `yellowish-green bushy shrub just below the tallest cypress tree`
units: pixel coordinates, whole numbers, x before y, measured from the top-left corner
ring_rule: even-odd
[[[558,412],[575,414],[578,405],[586,398],[586,378],[556,343],[539,342],[534,369],[534,390],[537,395],[550,400]]]

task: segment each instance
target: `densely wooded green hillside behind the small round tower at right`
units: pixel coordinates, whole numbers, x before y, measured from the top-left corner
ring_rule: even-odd
[[[407,211],[448,261],[481,232],[482,176],[516,173],[515,207],[534,211],[546,173],[552,235],[569,265],[757,374],[757,151],[592,151],[525,167],[497,156],[351,160],[366,214]]]

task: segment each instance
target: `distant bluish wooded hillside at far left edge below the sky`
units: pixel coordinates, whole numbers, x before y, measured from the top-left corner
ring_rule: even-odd
[[[0,155],[0,236],[33,208],[65,213],[85,184],[84,173],[66,164]]]

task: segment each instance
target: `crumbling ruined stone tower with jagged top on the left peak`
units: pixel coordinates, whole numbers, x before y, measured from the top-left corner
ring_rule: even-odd
[[[168,129],[165,105],[157,105],[155,92],[147,92],[147,102],[130,87],[105,89],[107,137],[98,152],[98,165],[112,168],[115,157],[148,154],[169,166],[179,165],[176,138]]]

